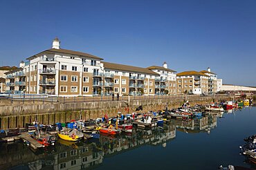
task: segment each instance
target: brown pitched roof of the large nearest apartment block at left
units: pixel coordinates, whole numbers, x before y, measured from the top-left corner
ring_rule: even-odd
[[[82,53],[82,52],[75,51],[75,50],[55,49],[55,48],[44,50],[44,51],[42,51],[40,53],[37,53],[36,55],[28,57],[27,59],[33,59],[33,57],[37,57],[37,55],[40,55],[42,53],[47,53],[47,52],[48,53],[65,53],[65,54],[69,54],[69,55],[80,55],[81,57],[90,57],[90,58],[93,58],[93,59],[102,59],[102,58],[97,57],[95,55],[90,55],[90,54]]]

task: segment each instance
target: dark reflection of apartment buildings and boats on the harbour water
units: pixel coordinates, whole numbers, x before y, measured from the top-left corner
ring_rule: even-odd
[[[223,113],[208,113],[193,120],[170,120],[153,129],[134,129],[118,136],[100,135],[99,140],[68,142],[58,140],[55,147],[33,152],[21,142],[1,144],[1,169],[95,169],[104,158],[136,149],[145,144],[166,147],[175,140],[176,131],[210,133],[217,127],[217,117]],[[18,151],[18,152],[17,152]],[[3,156],[4,155],[4,156]]]

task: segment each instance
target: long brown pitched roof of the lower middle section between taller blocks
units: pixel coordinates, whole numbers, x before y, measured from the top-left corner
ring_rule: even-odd
[[[127,66],[123,64],[115,64],[115,63],[109,63],[109,62],[102,62],[104,64],[104,68],[109,68],[113,70],[125,70],[135,73],[147,73],[149,75],[159,75],[158,73],[155,73],[152,70],[149,70],[148,68],[142,68],[142,67],[136,67],[136,66]]]

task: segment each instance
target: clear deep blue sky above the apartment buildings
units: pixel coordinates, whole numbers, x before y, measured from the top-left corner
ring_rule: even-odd
[[[256,1],[0,1],[0,66],[51,48],[256,86]]]

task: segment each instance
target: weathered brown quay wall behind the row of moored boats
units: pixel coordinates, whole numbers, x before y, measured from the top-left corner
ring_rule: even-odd
[[[37,121],[41,124],[55,124],[57,122],[70,122],[71,120],[89,120],[116,116],[118,112],[133,113],[138,106],[143,106],[143,111],[159,111],[168,108],[177,108],[188,100],[190,106],[205,104],[212,101],[230,100],[228,95],[215,95],[205,97],[166,97],[161,99],[140,99],[100,102],[68,102],[53,104],[30,104],[16,106],[0,106],[0,129],[15,129],[25,127]]]

